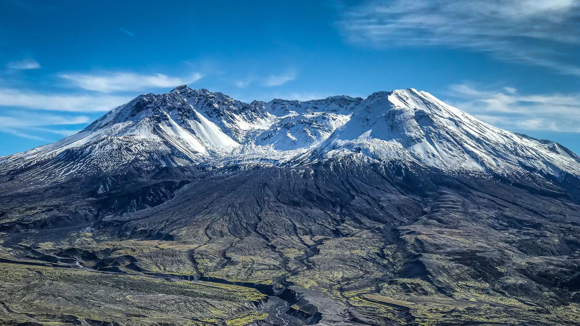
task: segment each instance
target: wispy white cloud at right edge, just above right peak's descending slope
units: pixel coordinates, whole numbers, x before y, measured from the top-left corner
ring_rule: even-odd
[[[500,128],[580,132],[580,93],[521,94],[513,87],[458,84],[450,86],[449,95],[454,106]]]

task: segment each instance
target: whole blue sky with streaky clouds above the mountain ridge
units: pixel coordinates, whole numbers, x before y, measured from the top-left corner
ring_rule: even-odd
[[[412,87],[580,153],[580,0],[0,5],[0,155],[181,84],[244,101]]]

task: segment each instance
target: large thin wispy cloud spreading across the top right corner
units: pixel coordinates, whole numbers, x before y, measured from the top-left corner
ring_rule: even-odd
[[[369,0],[343,12],[351,42],[467,48],[580,76],[580,0]]]

